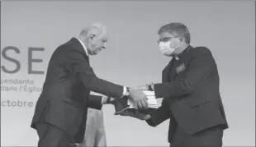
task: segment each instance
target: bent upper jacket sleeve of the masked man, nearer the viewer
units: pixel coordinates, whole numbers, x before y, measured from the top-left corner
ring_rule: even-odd
[[[157,98],[168,98],[176,95],[192,94],[205,76],[216,69],[216,62],[210,50],[201,48],[192,56],[186,76],[183,79],[172,82],[164,82],[154,85]]]

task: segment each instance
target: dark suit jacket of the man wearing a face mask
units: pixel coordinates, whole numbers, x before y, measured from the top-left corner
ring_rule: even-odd
[[[188,46],[164,68],[162,83],[154,85],[162,106],[151,114],[148,124],[157,126],[168,118],[168,141],[177,125],[189,134],[211,126],[228,128],[220,99],[220,78],[211,51],[205,47]]]

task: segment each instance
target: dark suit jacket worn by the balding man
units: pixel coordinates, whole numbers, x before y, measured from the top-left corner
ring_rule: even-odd
[[[101,98],[90,95],[91,90],[120,98],[123,87],[98,78],[82,44],[78,39],[70,39],[50,58],[31,127],[36,128],[38,122],[48,122],[65,131],[75,142],[82,142],[88,106],[101,108]]]

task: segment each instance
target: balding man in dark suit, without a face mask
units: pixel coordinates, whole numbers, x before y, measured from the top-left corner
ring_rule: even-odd
[[[88,55],[97,55],[106,48],[106,42],[106,27],[96,23],[85,27],[78,38],[55,49],[31,122],[39,136],[38,146],[82,143],[88,107],[101,109],[110,97],[128,96],[137,108],[148,107],[142,91],[116,85],[95,75]],[[109,97],[91,95],[91,91]]]

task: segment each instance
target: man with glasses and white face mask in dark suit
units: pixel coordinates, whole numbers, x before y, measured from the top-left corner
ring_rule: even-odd
[[[222,146],[228,128],[220,99],[216,62],[206,47],[192,47],[190,33],[182,23],[159,29],[159,49],[172,57],[162,72],[162,83],[149,84],[156,98],[164,98],[154,113],[124,113],[158,126],[170,118],[170,146]]]

